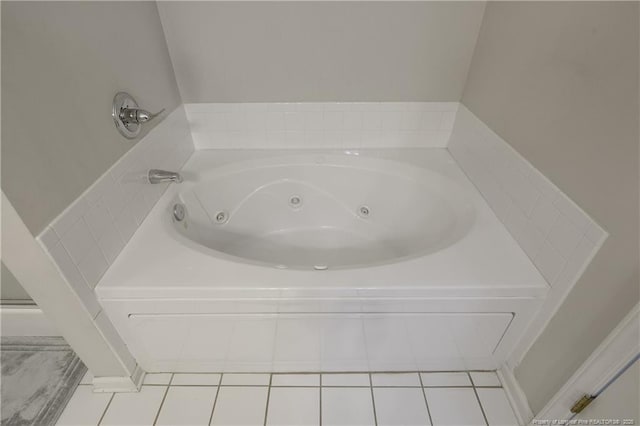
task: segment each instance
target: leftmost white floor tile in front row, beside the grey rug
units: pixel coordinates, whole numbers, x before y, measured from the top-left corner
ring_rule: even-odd
[[[111,399],[111,393],[94,393],[92,386],[78,386],[57,425],[97,425]]]

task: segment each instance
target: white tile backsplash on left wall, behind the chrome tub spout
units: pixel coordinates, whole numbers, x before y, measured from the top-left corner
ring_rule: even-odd
[[[114,137],[114,143],[128,142]],[[179,170],[193,149],[180,106],[38,235],[94,317],[100,305],[93,288],[167,188],[147,183],[147,171]]]

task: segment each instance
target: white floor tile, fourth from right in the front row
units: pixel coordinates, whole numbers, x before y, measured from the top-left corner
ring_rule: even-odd
[[[322,388],[322,424],[373,425],[370,388]]]

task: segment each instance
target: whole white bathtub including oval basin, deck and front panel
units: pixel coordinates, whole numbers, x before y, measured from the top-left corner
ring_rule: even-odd
[[[147,371],[495,369],[548,290],[446,150],[182,173],[96,288]]]

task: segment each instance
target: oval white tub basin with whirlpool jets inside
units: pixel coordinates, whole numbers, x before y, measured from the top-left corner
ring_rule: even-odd
[[[425,256],[463,238],[475,217],[465,190],[442,174],[348,155],[209,170],[185,185],[174,209],[176,228],[203,247],[302,270]]]

